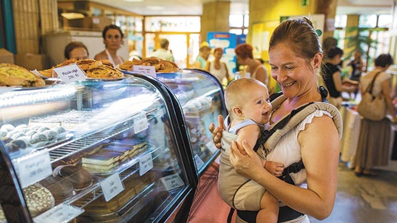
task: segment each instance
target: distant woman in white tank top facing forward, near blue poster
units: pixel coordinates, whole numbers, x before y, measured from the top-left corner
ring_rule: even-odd
[[[214,75],[219,82],[222,84],[222,81],[224,78],[227,78],[227,82],[232,81],[232,78],[229,75],[229,71],[227,70],[227,66],[225,63],[221,62],[221,58],[223,55],[223,49],[222,48],[215,48],[214,50],[214,61],[210,62],[208,61],[206,66],[204,67],[204,70],[210,72],[212,75]]]

